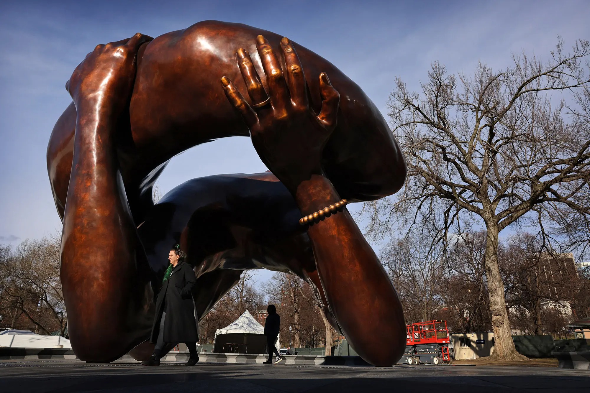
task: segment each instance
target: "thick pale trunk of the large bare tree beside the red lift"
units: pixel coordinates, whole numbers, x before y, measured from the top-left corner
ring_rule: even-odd
[[[490,296],[491,326],[494,330],[494,352],[490,360],[496,361],[527,361],[526,356],[516,352],[510,321],[504,298],[504,283],[498,266],[498,227],[497,224],[486,223],[487,239],[484,253],[487,289]]]

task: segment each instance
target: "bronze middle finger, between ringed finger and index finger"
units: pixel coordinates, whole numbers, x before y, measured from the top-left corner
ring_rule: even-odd
[[[266,82],[268,84],[268,93],[270,95],[273,108],[278,111],[283,111],[290,101],[289,89],[283,77],[283,70],[281,64],[278,63],[276,55],[274,55],[273,48],[268,44],[266,38],[262,35],[256,37],[256,47],[258,54],[262,61],[262,67],[266,74]]]

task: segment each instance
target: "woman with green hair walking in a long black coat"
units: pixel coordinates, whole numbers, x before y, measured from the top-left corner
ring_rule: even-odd
[[[194,366],[199,361],[196,352],[198,319],[192,299],[195,272],[184,258],[185,254],[178,244],[168,254],[170,265],[164,273],[162,289],[156,299],[156,317],[150,336],[150,342],[156,346],[152,356],[142,362],[144,366],[159,366],[160,358],[168,352],[165,349],[179,342],[185,343],[189,350],[187,366]]]

